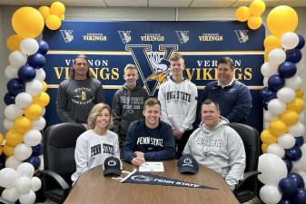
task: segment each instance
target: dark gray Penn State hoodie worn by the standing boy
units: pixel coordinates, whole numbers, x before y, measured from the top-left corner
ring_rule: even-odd
[[[148,93],[141,86],[130,89],[126,83],[114,93],[112,112],[114,132],[125,138],[132,121],[143,118],[143,104],[148,99]]]

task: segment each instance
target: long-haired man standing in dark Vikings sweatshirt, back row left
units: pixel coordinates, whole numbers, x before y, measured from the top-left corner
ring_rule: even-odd
[[[101,83],[90,76],[88,59],[80,54],[74,59],[70,79],[58,87],[57,114],[63,122],[78,122],[88,129],[88,114],[99,102],[103,102]]]

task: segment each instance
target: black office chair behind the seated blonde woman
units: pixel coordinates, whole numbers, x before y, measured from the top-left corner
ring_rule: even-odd
[[[44,196],[56,203],[63,203],[71,189],[75,143],[84,131],[83,125],[74,122],[51,125],[44,131]]]

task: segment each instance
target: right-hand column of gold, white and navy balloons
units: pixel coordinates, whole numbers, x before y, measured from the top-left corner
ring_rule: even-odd
[[[294,30],[298,15],[280,5],[267,16],[268,35],[262,64],[264,127],[258,177],[265,184],[260,197],[265,203],[306,203],[306,144],[304,144],[305,102],[301,88],[301,48],[305,41]]]

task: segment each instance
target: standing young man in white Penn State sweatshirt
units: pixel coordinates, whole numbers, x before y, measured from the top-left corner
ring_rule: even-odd
[[[161,119],[173,127],[174,139],[178,146],[177,158],[181,157],[192,133],[198,99],[195,84],[183,77],[184,69],[183,56],[180,53],[173,53],[170,57],[172,77],[161,84],[158,92],[158,100],[162,104]]]

